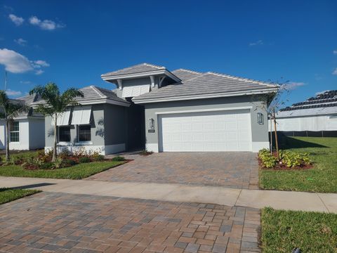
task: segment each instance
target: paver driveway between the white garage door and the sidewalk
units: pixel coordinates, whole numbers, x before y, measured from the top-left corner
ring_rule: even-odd
[[[88,180],[182,183],[257,189],[255,153],[154,153]]]

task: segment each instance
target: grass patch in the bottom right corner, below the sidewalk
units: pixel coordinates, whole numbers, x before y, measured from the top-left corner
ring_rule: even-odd
[[[337,252],[337,214],[278,211],[265,208],[261,214],[264,253]]]

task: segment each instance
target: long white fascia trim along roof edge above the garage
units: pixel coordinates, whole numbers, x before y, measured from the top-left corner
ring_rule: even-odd
[[[226,93],[214,93],[214,94],[204,94],[204,95],[193,95],[193,96],[178,96],[171,98],[147,98],[147,99],[135,99],[133,100],[136,104],[142,103],[158,103],[158,102],[169,102],[169,101],[178,101],[178,100],[192,100],[192,99],[203,99],[203,98],[222,98],[228,96],[246,96],[253,94],[264,94],[270,93],[272,91],[277,91],[278,89],[258,89],[252,91],[232,91]]]

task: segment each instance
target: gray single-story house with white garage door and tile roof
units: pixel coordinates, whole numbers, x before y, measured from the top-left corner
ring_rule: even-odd
[[[215,72],[169,71],[147,63],[101,75],[114,90],[80,89],[80,106],[58,121],[58,147],[103,155],[152,152],[253,151],[268,148],[260,95],[278,86]],[[46,117],[46,150],[53,147]]]

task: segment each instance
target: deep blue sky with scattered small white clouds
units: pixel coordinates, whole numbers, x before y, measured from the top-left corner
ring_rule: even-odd
[[[337,1],[1,1],[0,87],[112,89],[138,63],[292,82],[289,103],[337,89]],[[283,78],[283,79],[282,79]]]

